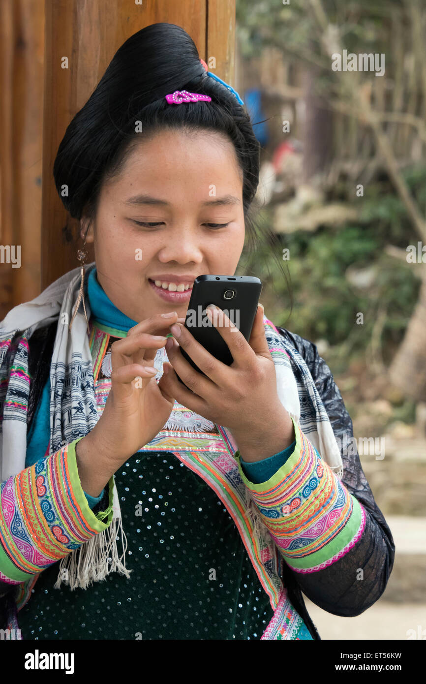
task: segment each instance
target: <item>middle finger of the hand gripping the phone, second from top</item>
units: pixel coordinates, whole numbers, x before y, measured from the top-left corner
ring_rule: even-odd
[[[197,342],[194,336],[191,334],[191,332],[189,332],[188,328],[185,328],[185,326],[178,323],[176,323],[175,325],[176,328],[178,328],[179,330],[179,334],[177,334],[177,331],[174,332],[174,330],[172,329],[171,332],[173,333],[173,335],[176,334],[176,337],[178,337],[178,345],[180,345],[182,349],[185,350],[185,352],[187,352],[188,356],[194,361],[194,363],[196,363],[198,368],[203,373],[205,373],[209,380],[211,380],[219,386],[222,386],[226,378],[229,378],[229,366],[227,366],[226,363],[222,363],[222,361],[219,361],[217,358],[215,358],[215,356],[213,356],[213,354],[210,354],[210,352],[208,352],[207,349],[205,349],[199,342]],[[174,343],[176,343],[176,339],[173,338],[173,340]],[[183,380],[183,377],[181,376],[181,371],[187,371],[187,373],[189,373],[189,369],[191,369],[192,371],[194,371],[194,369],[182,355],[175,354],[174,350],[175,347],[170,347],[170,350],[168,346],[165,347],[165,351],[166,354],[168,354],[168,356],[169,351],[172,352],[172,356],[169,356],[169,358],[170,360],[173,360],[173,365],[175,365],[175,360],[176,363],[179,364],[178,367],[176,366],[176,372],[178,373],[178,376],[180,376]]]

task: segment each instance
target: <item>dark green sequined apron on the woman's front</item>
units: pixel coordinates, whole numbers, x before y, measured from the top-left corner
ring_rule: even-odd
[[[172,453],[116,473],[131,579],[54,589],[40,575],[18,613],[23,639],[260,639],[274,614],[224,505]]]

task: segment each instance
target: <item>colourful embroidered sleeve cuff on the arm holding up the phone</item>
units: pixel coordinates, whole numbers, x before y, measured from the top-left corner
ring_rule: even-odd
[[[235,454],[245,486],[289,567],[313,573],[339,560],[360,539],[364,508],[334,475],[293,421],[296,445],[267,482],[250,482]]]

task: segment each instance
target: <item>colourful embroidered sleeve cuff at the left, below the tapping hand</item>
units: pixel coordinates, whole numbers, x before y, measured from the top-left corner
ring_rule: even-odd
[[[25,581],[109,527],[114,477],[108,508],[95,515],[77,470],[79,439],[0,484],[0,581]]]

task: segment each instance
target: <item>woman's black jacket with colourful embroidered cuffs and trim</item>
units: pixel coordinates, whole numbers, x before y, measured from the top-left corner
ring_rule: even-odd
[[[280,332],[289,334],[282,329]],[[95,377],[108,337],[108,332],[92,329]],[[343,400],[330,370],[317,356],[315,345],[297,336],[291,339],[304,356],[306,352],[315,356],[310,371],[325,408],[328,410],[330,402],[334,402],[336,412],[329,415],[336,436],[351,435],[351,424],[342,425],[349,418]],[[106,400],[107,387],[104,389]],[[102,401],[98,408],[102,410]],[[341,429],[336,430],[336,421],[341,421]],[[343,455],[345,475],[341,482],[298,425],[295,436],[296,447],[289,460],[261,484],[253,484],[245,477],[239,452],[235,453],[237,445],[224,428],[219,427],[214,438],[215,453],[206,443],[211,434],[200,433],[187,443],[179,434],[173,448],[170,433],[160,432],[152,443],[152,449],[172,451],[202,477],[235,522],[274,609],[264,639],[297,638],[300,618],[319,638],[304,606],[301,588],[329,612],[360,614],[384,591],[395,553],[392,536],[375,505],[358,455],[349,460]],[[77,472],[77,441],[1,484],[0,581],[5,594],[11,585],[18,586],[18,607],[26,603],[41,570],[111,521],[113,479],[109,482],[106,510],[90,510]],[[362,483],[358,497],[353,493],[357,481]],[[359,568],[364,570],[362,583],[358,581]],[[8,623],[13,627],[13,621],[9,619]]]

